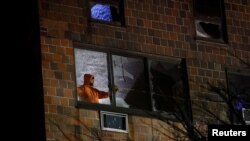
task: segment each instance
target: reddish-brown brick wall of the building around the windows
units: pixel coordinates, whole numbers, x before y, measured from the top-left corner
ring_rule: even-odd
[[[87,0],[39,1],[47,140],[67,140],[62,131],[71,140],[89,140],[92,135],[85,125],[99,129],[97,111],[75,108],[74,42],[186,58],[193,103],[215,108],[223,115],[223,108],[203,99],[213,95],[200,85],[223,82],[225,66],[242,66],[229,52],[249,60],[248,0],[225,0],[227,44],[195,40],[192,0],[124,0],[125,27],[90,23],[86,5]],[[193,110],[199,118],[202,111]],[[160,127],[156,124],[154,119],[129,115],[128,134],[103,132],[102,136],[104,140],[169,139],[152,128]]]

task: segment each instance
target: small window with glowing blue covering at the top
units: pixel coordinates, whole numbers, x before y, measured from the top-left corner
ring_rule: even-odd
[[[89,13],[91,21],[125,25],[123,0],[90,0]]]

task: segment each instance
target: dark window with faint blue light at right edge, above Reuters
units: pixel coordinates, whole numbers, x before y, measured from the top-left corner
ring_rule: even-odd
[[[227,70],[227,83],[234,111],[244,119],[249,119],[247,111],[250,109],[250,70]],[[231,113],[233,114],[233,113]],[[232,120],[239,123],[235,114]]]

